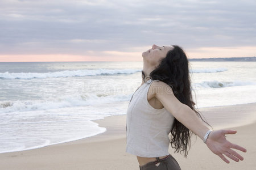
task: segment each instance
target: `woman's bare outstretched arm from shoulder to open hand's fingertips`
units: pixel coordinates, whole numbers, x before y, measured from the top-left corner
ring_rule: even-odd
[[[163,104],[164,108],[166,108],[176,120],[203,140],[205,133],[209,130],[208,126],[205,125],[191,108],[177,100],[171,87],[164,82],[153,82],[151,86],[154,96]],[[234,130],[212,131],[207,139],[207,146],[210,151],[220,156],[226,163],[229,163],[229,160],[226,159],[225,156],[228,156],[228,158],[236,162],[243,160],[243,157],[233,149],[246,152],[245,148],[226,140],[226,134],[235,133],[236,131]]]

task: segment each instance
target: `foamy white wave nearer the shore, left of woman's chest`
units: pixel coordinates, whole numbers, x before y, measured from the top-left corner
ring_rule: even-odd
[[[39,111],[46,109],[79,107],[83,105],[107,104],[118,101],[129,101],[130,97],[131,95],[87,94],[52,97],[46,100],[5,100],[0,101],[0,113]]]

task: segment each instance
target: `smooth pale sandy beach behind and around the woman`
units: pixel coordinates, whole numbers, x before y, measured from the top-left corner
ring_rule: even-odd
[[[214,129],[230,128],[236,135],[227,139],[247,149],[242,162],[226,164],[212,154],[200,138],[192,138],[187,159],[170,153],[181,169],[255,169],[256,103],[201,108]],[[136,156],[127,154],[126,115],[95,121],[107,131],[78,141],[51,145],[27,151],[0,154],[0,169],[139,169]]]

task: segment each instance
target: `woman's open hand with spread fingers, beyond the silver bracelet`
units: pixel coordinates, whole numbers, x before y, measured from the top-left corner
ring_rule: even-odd
[[[246,149],[241,146],[230,143],[229,141],[226,140],[225,137],[226,134],[236,133],[236,130],[212,131],[207,139],[207,146],[214,154],[220,156],[220,158],[224,160],[226,163],[229,163],[229,160],[226,159],[225,156],[228,156],[228,158],[233,159],[236,162],[238,162],[239,160],[243,160],[243,157],[239,155],[236,151],[232,150],[232,148],[240,150],[242,152],[246,152]]]

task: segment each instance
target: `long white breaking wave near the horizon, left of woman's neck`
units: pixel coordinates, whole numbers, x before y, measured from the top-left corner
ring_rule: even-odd
[[[35,79],[35,78],[58,78],[71,76],[93,76],[93,75],[114,75],[114,74],[134,74],[141,70],[137,69],[84,69],[65,70],[49,73],[0,73],[0,79]]]

